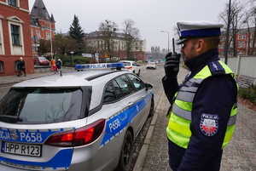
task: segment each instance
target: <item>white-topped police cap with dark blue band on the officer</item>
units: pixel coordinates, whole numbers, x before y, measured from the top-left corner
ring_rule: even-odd
[[[183,43],[192,37],[214,37],[221,34],[220,28],[224,25],[209,20],[178,21],[177,28],[180,31],[180,40],[177,44]]]

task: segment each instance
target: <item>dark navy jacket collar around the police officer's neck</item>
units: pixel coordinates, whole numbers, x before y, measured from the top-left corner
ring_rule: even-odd
[[[195,58],[185,62],[185,65],[189,67],[190,71],[196,72],[200,71],[204,66],[209,62],[219,60],[218,58],[218,48],[213,48],[212,50],[207,51],[204,54],[195,56]]]

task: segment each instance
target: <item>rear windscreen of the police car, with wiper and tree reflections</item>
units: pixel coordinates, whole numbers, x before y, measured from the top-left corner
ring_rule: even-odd
[[[61,123],[79,119],[79,88],[13,88],[0,102],[0,121]]]

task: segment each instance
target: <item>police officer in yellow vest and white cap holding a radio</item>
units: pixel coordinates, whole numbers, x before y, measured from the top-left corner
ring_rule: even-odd
[[[218,171],[234,132],[238,87],[218,58],[220,28],[212,21],[179,21],[181,53],[189,74],[178,85],[180,54],[166,54],[162,83],[172,104],[166,128],[173,171]]]

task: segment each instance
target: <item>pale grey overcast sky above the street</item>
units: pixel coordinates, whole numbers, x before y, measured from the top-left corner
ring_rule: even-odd
[[[29,0],[30,9],[35,0]],[[135,21],[141,39],[146,39],[147,51],[152,46],[172,49],[173,28],[178,20],[218,21],[218,14],[229,0],[44,0],[49,15],[55,18],[57,32],[67,32],[73,16],[85,33],[98,30],[104,20],[117,23],[119,29],[127,19]]]

